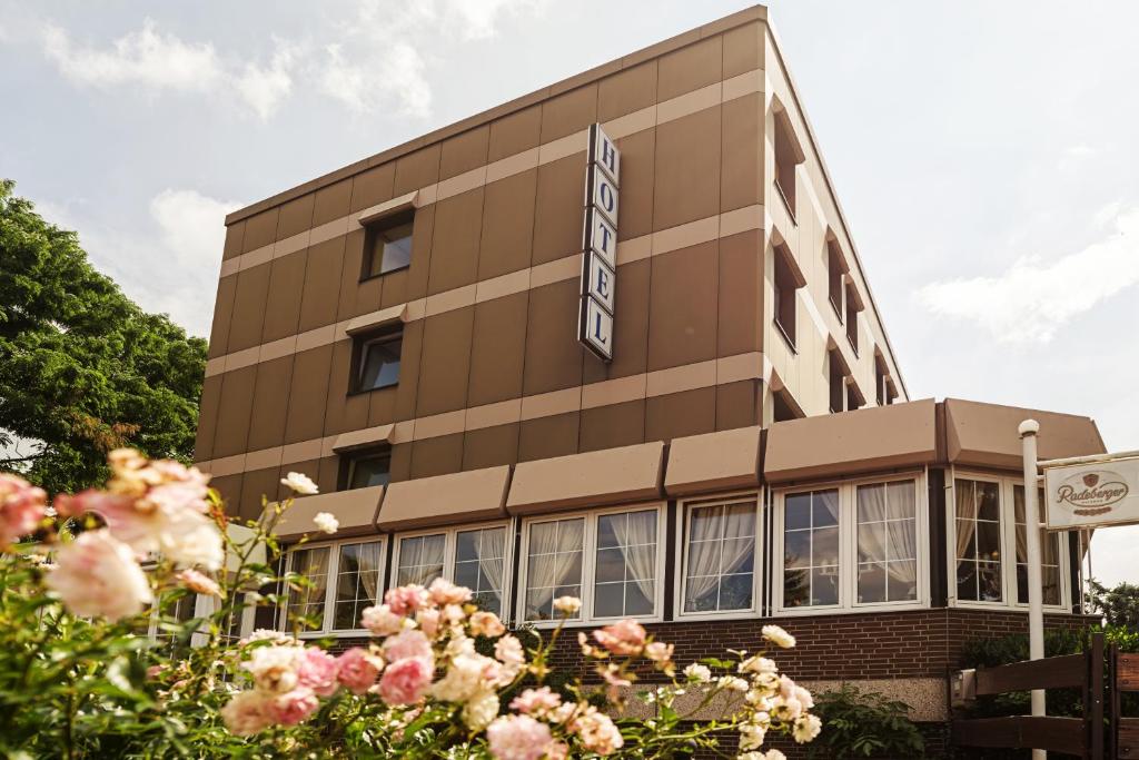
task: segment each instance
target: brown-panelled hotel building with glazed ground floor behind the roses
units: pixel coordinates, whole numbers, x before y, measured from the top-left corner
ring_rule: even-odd
[[[1027,417],[1044,458],[1104,451],[910,399],[756,7],[230,214],[196,459],[246,518],[317,481],[286,542],[339,520],[277,624],[359,639],[440,575],[682,662],[777,621],[796,678],[936,722],[961,643],[1027,627]],[[1049,624],[1083,624],[1076,537],[1044,563]]]

